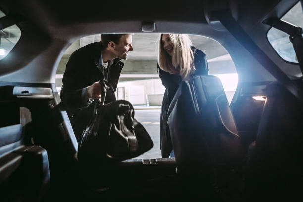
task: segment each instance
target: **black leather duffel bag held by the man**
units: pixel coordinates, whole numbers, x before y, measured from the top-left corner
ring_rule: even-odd
[[[116,100],[112,86],[103,80],[101,101],[95,109],[78,147],[78,160],[101,163],[137,157],[152,149],[153,142],[142,124],[134,119],[135,111],[126,100]]]

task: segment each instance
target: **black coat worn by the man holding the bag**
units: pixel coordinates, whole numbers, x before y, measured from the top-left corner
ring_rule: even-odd
[[[91,43],[76,50],[70,56],[63,75],[60,98],[67,109],[78,143],[95,107],[94,104],[83,101],[81,97],[83,88],[105,78],[116,90],[124,65],[120,59],[114,59],[107,69],[101,66],[100,71],[98,64],[102,50],[101,42]]]

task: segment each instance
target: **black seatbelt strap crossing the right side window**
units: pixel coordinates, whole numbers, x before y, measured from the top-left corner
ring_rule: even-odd
[[[270,25],[278,30],[281,30],[287,34],[289,34],[289,41],[293,44],[297,60],[299,62],[299,66],[301,72],[303,74],[303,37],[302,37],[302,28],[297,27],[293,24],[290,24],[284,20],[280,20],[277,17],[268,18],[264,20],[262,23]]]

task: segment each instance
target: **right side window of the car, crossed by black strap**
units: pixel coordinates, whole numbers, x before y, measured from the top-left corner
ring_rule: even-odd
[[[281,19],[296,26],[303,27],[301,2],[299,1]],[[293,44],[290,42],[288,34],[273,27],[268,31],[267,38],[274,50],[276,50],[284,60],[298,63]]]

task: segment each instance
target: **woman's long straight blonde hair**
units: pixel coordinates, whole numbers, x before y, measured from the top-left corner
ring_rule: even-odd
[[[187,34],[168,34],[173,44],[173,54],[170,57],[164,50],[162,36],[159,39],[158,63],[162,70],[171,74],[179,74],[182,80],[189,81],[193,72],[194,54],[191,49],[192,42]]]

